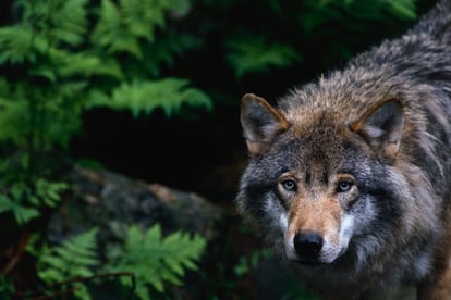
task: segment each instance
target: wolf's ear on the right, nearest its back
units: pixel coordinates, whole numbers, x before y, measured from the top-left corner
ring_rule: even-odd
[[[352,124],[351,129],[363,136],[383,158],[394,161],[404,127],[404,109],[400,100],[381,101]]]

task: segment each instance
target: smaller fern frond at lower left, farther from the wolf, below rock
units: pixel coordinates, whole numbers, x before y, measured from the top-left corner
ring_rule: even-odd
[[[93,276],[93,268],[99,265],[97,233],[97,228],[92,228],[65,240],[61,246],[44,246],[38,252],[36,263],[39,278],[47,285],[54,285],[68,279]],[[74,285],[78,299],[90,299],[83,283]]]

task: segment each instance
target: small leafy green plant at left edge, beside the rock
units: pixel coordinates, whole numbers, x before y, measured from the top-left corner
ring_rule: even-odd
[[[64,183],[50,183],[39,178],[34,186],[16,183],[9,192],[0,193],[0,215],[11,212],[19,225],[24,225],[40,215],[44,207],[54,208],[60,193],[68,188]]]

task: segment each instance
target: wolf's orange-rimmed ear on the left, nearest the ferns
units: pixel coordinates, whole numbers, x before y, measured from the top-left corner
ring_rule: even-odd
[[[291,124],[265,99],[246,93],[241,101],[241,126],[249,154],[258,155]]]

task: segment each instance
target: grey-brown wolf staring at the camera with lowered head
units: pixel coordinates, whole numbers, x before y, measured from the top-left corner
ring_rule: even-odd
[[[237,212],[313,291],[451,299],[451,0],[241,124]]]

